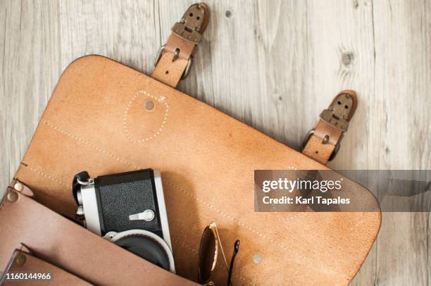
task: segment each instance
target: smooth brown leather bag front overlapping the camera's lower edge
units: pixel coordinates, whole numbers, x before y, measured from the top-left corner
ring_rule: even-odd
[[[14,249],[25,244],[35,256],[96,285],[195,285],[94,235],[23,194],[15,202],[6,199],[0,209],[2,270]],[[36,260],[30,258],[30,261]],[[32,270],[31,265],[28,268],[26,265],[23,271]]]

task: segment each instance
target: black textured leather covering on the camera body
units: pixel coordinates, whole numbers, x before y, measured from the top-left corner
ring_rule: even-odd
[[[142,229],[163,237],[153,170],[100,176],[94,179],[94,187],[99,200],[102,236],[110,231]],[[146,209],[154,211],[153,220],[129,220],[130,215]]]

